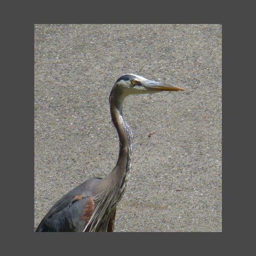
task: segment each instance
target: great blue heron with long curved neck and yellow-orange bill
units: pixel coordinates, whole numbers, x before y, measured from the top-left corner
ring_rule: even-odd
[[[111,118],[119,136],[119,156],[106,178],[90,178],[65,194],[48,211],[36,232],[112,232],[116,206],[126,190],[132,167],[132,132],[124,121],[124,98],[130,94],[183,91],[125,74],[117,79],[109,96]]]

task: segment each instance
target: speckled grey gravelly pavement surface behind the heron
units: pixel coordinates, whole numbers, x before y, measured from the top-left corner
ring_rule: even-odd
[[[108,96],[125,73],[186,91],[126,98],[134,160],[115,232],[221,232],[219,24],[35,25],[35,228],[115,166]]]

